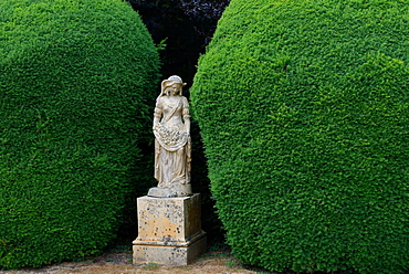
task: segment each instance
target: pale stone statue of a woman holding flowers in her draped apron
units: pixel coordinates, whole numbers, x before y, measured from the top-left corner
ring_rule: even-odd
[[[190,185],[190,115],[188,99],[181,95],[186,85],[179,76],[161,82],[154,115],[155,178],[151,197],[186,197]]]

